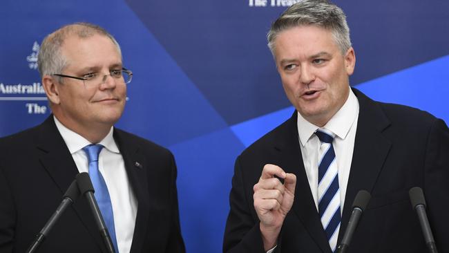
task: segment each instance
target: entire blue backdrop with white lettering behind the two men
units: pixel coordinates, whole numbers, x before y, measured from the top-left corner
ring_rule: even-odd
[[[103,26],[134,73],[117,127],[173,151],[187,250],[220,252],[234,159],[293,111],[265,39],[293,2],[3,0],[0,136],[50,113],[36,69],[44,36],[75,21]],[[448,122],[449,1],[335,2],[356,51],[351,84]]]

